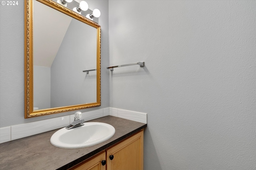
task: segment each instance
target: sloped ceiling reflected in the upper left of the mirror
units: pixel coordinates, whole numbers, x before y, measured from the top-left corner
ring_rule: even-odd
[[[33,65],[50,67],[72,18],[33,1]]]

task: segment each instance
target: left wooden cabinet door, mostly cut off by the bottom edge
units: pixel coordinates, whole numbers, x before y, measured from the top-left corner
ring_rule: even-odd
[[[102,160],[106,161],[105,151],[85,160],[70,170],[106,170],[106,165],[102,165]]]

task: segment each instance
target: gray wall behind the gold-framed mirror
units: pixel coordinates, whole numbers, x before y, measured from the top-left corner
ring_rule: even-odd
[[[109,106],[108,83],[108,1],[87,0],[90,9],[101,12],[101,106],[81,111],[91,111]],[[24,119],[24,1],[18,6],[0,5],[0,127],[73,114],[64,112]],[[11,120],[11,121],[10,121]]]

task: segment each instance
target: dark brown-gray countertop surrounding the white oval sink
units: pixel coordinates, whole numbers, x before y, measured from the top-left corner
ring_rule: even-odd
[[[66,170],[147,126],[145,123],[114,116],[101,117],[88,122],[108,123],[116,129],[116,133],[105,142],[80,149],[62,149],[53,146],[50,138],[58,129],[1,143],[0,169]]]

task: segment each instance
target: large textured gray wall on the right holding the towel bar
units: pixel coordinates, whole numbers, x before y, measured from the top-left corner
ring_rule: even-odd
[[[109,0],[110,107],[148,113],[144,170],[256,169],[256,1]]]

